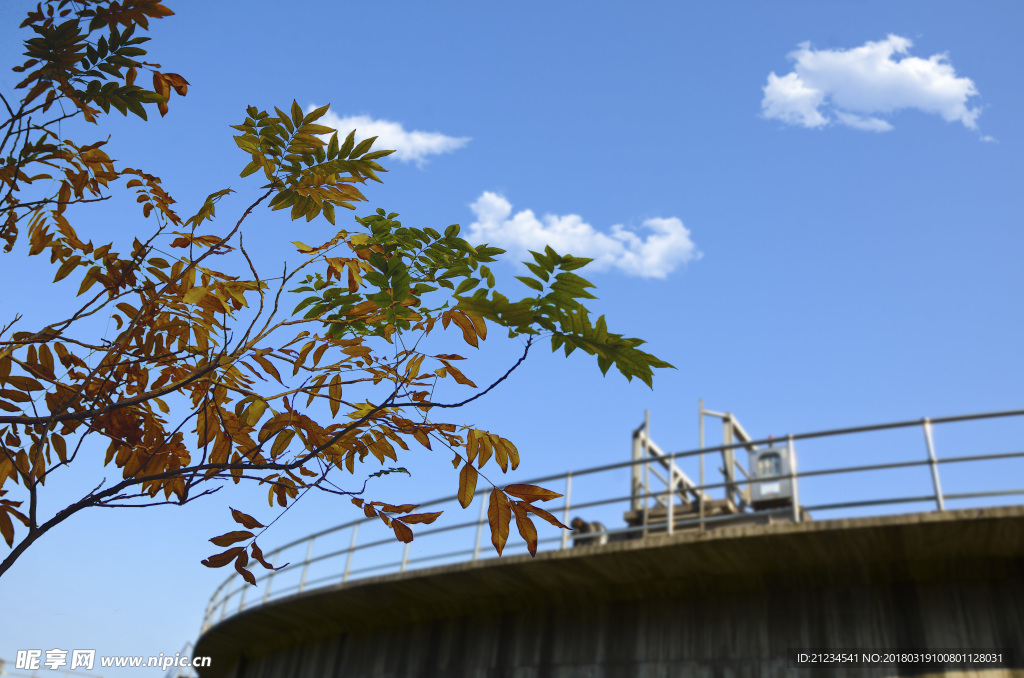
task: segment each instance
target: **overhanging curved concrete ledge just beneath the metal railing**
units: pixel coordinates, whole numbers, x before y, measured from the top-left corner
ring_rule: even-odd
[[[1024,578],[1024,506],[737,525],[362,579],[247,609],[195,653],[216,678],[341,633],[596,600],[692,599],[767,589]]]

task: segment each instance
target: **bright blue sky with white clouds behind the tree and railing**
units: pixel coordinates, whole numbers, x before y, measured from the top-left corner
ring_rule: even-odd
[[[3,63],[20,51],[17,5],[0,10]],[[677,369],[651,391],[538,346],[452,419],[514,440],[517,478],[625,461],[645,409],[663,448],[695,448],[701,397],[756,437],[1021,407],[1019,3],[169,6],[177,13],[154,24],[151,60],[183,75],[188,95],[164,119],[117,116],[76,133],[112,133],[111,155],[161,176],[182,212],[231,186],[217,212],[233,223],[258,182],[239,178],[247,159],[227,126],[247,104],[295,99],[331,103],[335,117],[322,122],[372,130],[377,146],[398,151],[357,214],[460,223],[510,255],[550,243],[598,259],[582,271],[597,285],[591,307]],[[0,73],[5,92],[14,82]],[[78,223],[102,242],[148,225],[130,200],[83,210]],[[332,235],[324,220],[266,211],[245,232],[272,270],[289,241]],[[15,311],[41,323],[74,294],[49,284],[44,261],[2,256],[4,289],[18,290],[0,297],[4,323]],[[495,267],[510,296],[526,294],[516,260]],[[520,345],[496,337],[458,350],[485,383]],[[942,430],[940,456],[1015,449],[1021,426]],[[920,430],[835,454],[892,459],[897,438],[924,454]],[[816,463],[800,455],[802,467]],[[374,496],[452,494],[449,461],[413,452],[402,460],[413,478],[374,480]],[[48,483],[51,511],[103,477],[93,466]],[[998,468],[947,482],[997,489],[1010,481]],[[871,490],[906,494],[900,478]],[[625,474],[609,481],[608,493],[627,491]],[[356,517],[344,501],[307,500],[264,550]],[[18,610],[0,619],[0,658],[173,653],[195,640],[226,576],[199,561],[214,552],[206,539],[230,528],[228,505],[275,515],[262,491],[228,488],[184,508],[94,510],[54,529],[0,581],[0,606]]]

